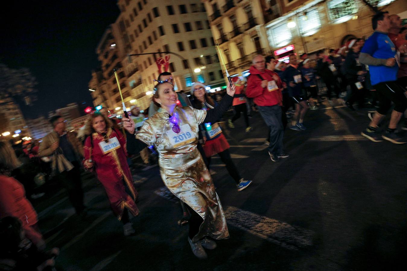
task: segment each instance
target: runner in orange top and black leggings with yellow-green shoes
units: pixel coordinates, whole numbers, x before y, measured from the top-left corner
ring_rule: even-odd
[[[251,130],[253,130],[253,128],[249,125],[249,116],[247,115],[246,95],[244,92],[245,82],[243,82],[237,76],[233,77],[232,81],[236,85],[236,92],[234,94],[234,99],[233,99],[233,103],[232,103],[232,105],[234,107],[234,111],[236,111],[236,113],[234,114],[232,119],[228,119],[229,127],[234,128],[233,122],[236,119],[240,118],[240,113],[242,112],[243,117],[245,118],[245,122],[246,122],[246,132],[250,132]]]

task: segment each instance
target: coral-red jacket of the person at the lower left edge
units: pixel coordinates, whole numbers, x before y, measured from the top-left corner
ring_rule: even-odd
[[[25,196],[24,186],[12,177],[0,174],[0,218],[20,219],[26,237],[37,247],[44,244],[42,235],[32,226],[38,222],[37,212]]]

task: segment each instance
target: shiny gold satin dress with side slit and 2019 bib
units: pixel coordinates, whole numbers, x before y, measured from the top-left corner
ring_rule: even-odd
[[[197,149],[199,124],[205,110],[190,106],[176,107],[174,117],[181,131],[173,131],[169,113],[160,108],[147,119],[136,139],[154,145],[159,154],[161,178],[166,187],[203,219],[193,242],[204,236],[229,238],[228,226],[212,178]]]

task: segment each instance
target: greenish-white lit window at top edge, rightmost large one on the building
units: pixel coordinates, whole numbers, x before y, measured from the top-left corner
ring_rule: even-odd
[[[332,0],[328,2],[328,13],[331,21],[342,23],[352,19],[357,13],[356,0]]]

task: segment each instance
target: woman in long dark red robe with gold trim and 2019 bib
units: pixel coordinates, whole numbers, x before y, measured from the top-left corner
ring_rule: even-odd
[[[128,211],[133,216],[138,215],[137,191],[127,164],[126,139],[112,128],[112,121],[100,113],[90,115],[87,127],[90,136],[85,140],[83,165],[89,171],[96,171],[114,214],[123,223],[124,234],[133,234],[135,230]]]

